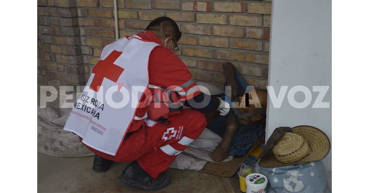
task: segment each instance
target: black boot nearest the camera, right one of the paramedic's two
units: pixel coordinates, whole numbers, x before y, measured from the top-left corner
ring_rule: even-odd
[[[118,177],[119,182],[130,188],[141,188],[148,191],[155,191],[169,185],[170,172],[159,174],[158,178],[152,178],[145,172],[136,161],[131,162]]]

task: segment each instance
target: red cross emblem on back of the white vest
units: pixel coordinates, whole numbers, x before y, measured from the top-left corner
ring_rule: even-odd
[[[99,92],[100,86],[103,83],[103,79],[107,78],[113,82],[117,82],[119,76],[124,71],[124,68],[115,65],[114,62],[122,52],[113,50],[104,60],[99,60],[97,64],[92,68],[92,73],[94,77],[92,79],[90,89]]]

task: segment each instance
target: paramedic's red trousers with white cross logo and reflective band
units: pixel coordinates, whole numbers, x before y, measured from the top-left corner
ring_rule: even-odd
[[[87,147],[95,154],[115,162],[137,161],[153,178],[158,178],[188,145],[197,139],[206,126],[202,113],[183,109],[181,114],[170,116],[169,125],[143,126],[124,139],[115,156]],[[145,131],[146,130],[146,131]]]

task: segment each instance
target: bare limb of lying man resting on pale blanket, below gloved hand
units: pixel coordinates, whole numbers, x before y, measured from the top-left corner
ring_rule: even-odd
[[[215,162],[221,162],[229,157],[229,149],[233,139],[233,135],[237,130],[237,117],[234,114],[229,114],[224,120],[225,134],[222,141],[219,143],[217,148],[211,154],[211,159]]]

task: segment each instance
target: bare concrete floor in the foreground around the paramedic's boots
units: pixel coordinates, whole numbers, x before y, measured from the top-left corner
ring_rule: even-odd
[[[93,157],[56,158],[37,154],[37,192],[145,192],[130,189],[118,182],[118,175],[128,163],[114,163],[110,170],[92,170]],[[237,178],[169,169],[170,185],[158,192],[241,192]]]

